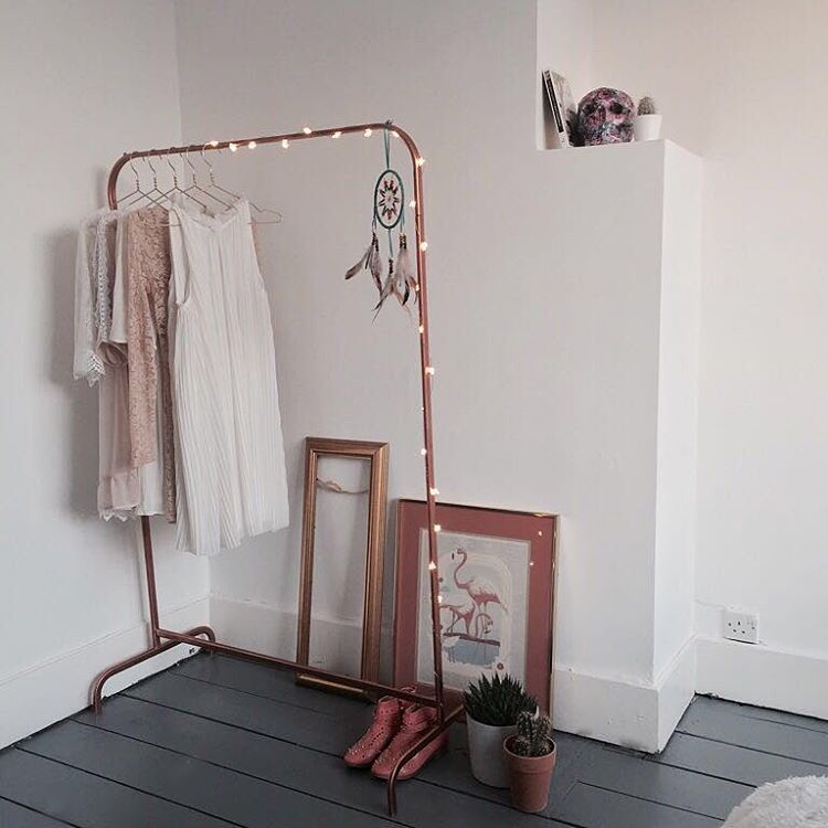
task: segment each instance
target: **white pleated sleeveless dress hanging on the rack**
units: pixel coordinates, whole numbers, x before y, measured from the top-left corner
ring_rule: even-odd
[[[179,549],[212,555],[288,524],[276,354],[246,200],[170,210]]]

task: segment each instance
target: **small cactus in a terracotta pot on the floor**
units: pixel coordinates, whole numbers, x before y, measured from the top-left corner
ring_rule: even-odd
[[[503,741],[512,805],[527,814],[546,807],[558,752],[548,715],[521,713],[518,734]]]

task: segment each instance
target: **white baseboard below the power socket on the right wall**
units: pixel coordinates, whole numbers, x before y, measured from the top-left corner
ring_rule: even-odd
[[[828,719],[828,659],[698,637],[697,692]]]

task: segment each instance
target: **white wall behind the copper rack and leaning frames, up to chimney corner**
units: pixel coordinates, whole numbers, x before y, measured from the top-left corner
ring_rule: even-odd
[[[508,13],[499,0],[433,0],[416,14],[386,0],[336,17],[322,0],[177,9],[188,139],[394,117],[420,141],[440,497],[563,516],[555,662],[570,689],[556,714],[652,747],[640,733],[649,707],[613,711],[616,691],[645,707],[657,694],[665,146],[537,151],[530,0]],[[304,437],[388,440],[390,497],[423,493],[416,329],[395,307],[372,323],[368,279],[342,282],[368,242],[381,166],[379,136],[217,162],[229,187],[285,214],[259,235],[293,526],[211,563],[213,620],[288,655],[291,637],[276,629],[296,606]],[[596,687],[615,721],[590,731],[594,709],[573,680]]]

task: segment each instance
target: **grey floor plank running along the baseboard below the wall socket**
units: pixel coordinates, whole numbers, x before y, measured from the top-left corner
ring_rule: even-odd
[[[828,733],[751,719],[726,707],[693,704],[678,732],[828,767]]]

